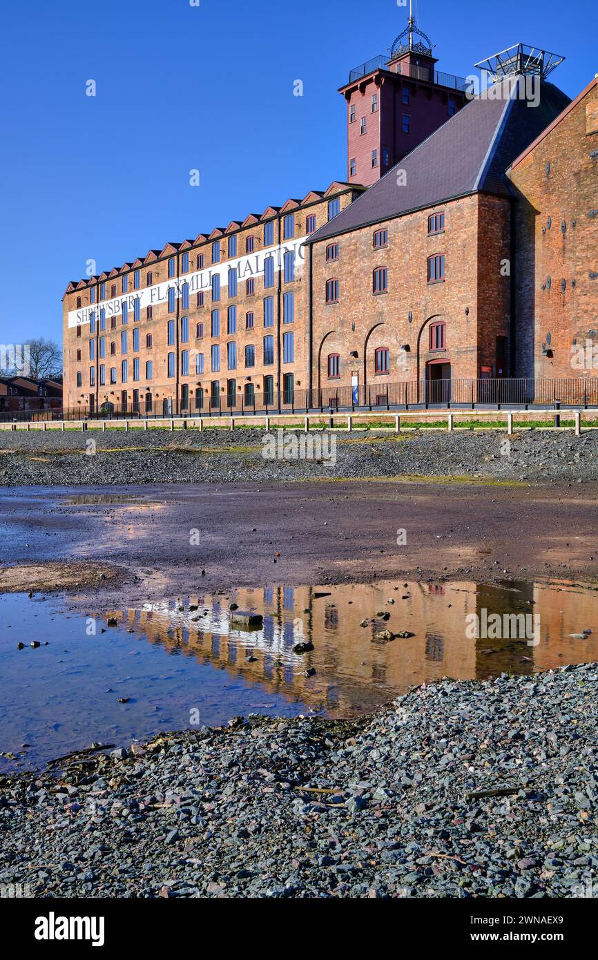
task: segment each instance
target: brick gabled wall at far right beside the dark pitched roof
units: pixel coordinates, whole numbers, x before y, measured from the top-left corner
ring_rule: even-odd
[[[598,84],[514,165],[518,376],[597,375],[571,365],[598,344]],[[546,170],[546,164],[550,164]],[[549,222],[550,218],[550,222]],[[562,226],[564,229],[562,229]],[[549,283],[550,277],[550,283]],[[564,281],[564,289],[562,289]],[[553,355],[542,353],[550,334]]]

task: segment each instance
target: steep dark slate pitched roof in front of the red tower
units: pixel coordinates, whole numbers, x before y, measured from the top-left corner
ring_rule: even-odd
[[[524,80],[495,84],[471,100],[306,242],[477,191],[511,196],[505,170],[569,103],[562,90],[543,81],[538,106],[528,106]],[[398,170],[404,185],[398,185]]]

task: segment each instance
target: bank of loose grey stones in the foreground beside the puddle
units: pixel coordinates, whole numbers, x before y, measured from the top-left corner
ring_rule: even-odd
[[[595,663],[445,680],[357,724],[237,718],[0,780],[0,882],[35,897],[588,896],[597,681]],[[514,792],[467,797],[496,788]]]

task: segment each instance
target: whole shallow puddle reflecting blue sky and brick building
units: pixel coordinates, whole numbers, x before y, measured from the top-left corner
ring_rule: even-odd
[[[263,626],[239,629],[231,603],[262,614]],[[81,614],[7,594],[0,625],[0,751],[17,757],[0,756],[0,769],[12,770],[93,741],[128,746],[250,712],[356,716],[444,676],[598,660],[598,592],[565,583],[238,589]],[[414,636],[379,641],[387,629]]]

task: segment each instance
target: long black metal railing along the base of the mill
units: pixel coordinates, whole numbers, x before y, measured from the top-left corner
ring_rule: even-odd
[[[251,388],[251,389],[250,389]],[[367,386],[259,392],[246,385],[242,394],[208,395],[198,391],[187,398],[152,395],[126,405],[104,403],[98,409],[77,406],[62,410],[0,412],[0,422],[35,420],[163,419],[170,417],[222,417],[276,413],[327,413],[461,407],[598,407],[598,377],[554,379],[508,378],[409,380]]]

